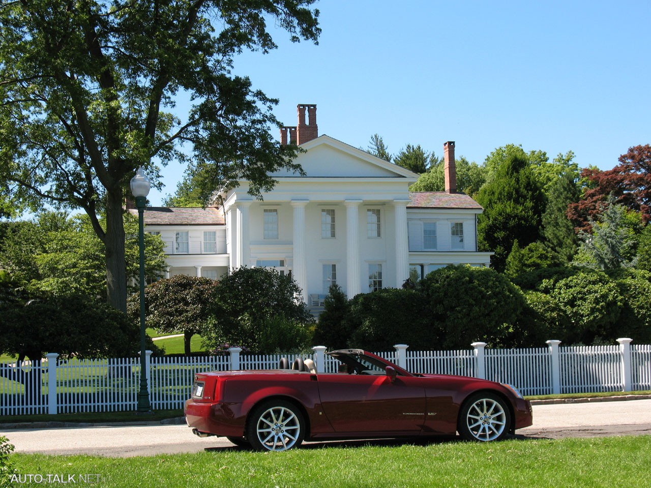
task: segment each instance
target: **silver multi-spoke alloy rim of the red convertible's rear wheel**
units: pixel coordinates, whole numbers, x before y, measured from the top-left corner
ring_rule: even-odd
[[[262,446],[270,451],[292,448],[301,434],[298,416],[287,407],[271,407],[258,417],[256,434]]]

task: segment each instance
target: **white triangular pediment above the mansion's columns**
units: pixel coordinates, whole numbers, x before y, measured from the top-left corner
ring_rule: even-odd
[[[307,178],[406,178],[416,181],[418,175],[398,165],[372,156],[327,135],[301,144],[305,152],[295,161]],[[300,178],[289,171],[273,173],[273,178]]]

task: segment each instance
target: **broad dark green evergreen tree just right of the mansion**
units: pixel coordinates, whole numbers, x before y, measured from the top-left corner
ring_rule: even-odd
[[[527,158],[506,155],[492,182],[480,189],[477,202],[484,207],[477,228],[480,247],[495,252],[491,267],[501,273],[514,241],[527,246],[540,233],[545,197]]]

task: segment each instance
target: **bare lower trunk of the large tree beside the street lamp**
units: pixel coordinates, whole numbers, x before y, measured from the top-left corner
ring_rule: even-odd
[[[126,260],[124,258],[124,220],[122,188],[106,193],[106,293],[109,305],[126,314]]]

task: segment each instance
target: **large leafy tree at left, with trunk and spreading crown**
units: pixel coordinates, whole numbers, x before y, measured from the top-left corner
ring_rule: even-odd
[[[18,197],[83,209],[105,245],[107,297],[126,310],[122,204],[137,167],[191,157],[212,187],[271,170],[294,146],[271,134],[275,100],[231,73],[242,49],[277,47],[271,21],[316,42],[314,0],[34,0],[0,7],[0,180]],[[176,96],[188,96],[182,118]],[[187,142],[189,152],[180,146]],[[98,212],[105,211],[106,226]]]

